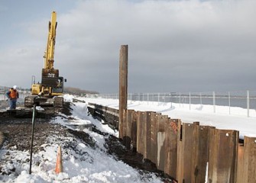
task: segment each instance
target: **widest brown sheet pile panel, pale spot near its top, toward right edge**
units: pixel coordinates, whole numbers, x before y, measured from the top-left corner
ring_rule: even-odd
[[[209,182],[236,182],[238,137],[236,130],[210,129]]]

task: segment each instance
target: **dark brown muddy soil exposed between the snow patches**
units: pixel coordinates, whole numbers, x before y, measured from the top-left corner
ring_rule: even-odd
[[[66,103],[63,113],[67,116],[70,115],[70,104]],[[89,146],[96,146],[89,134],[79,131],[70,130],[60,124],[50,124],[53,115],[46,115],[44,118],[36,118],[34,126],[34,152],[41,151],[41,145],[43,145],[47,136],[50,133],[58,133],[62,136],[75,136]],[[0,130],[5,136],[5,149],[17,149],[20,151],[27,151],[31,146],[31,117],[21,118],[21,117],[11,117],[0,115]],[[115,159],[122,160],[123,162],[131,165],[134,169],[138,169],[138,172],[144,174],[146,172],[154,172],[159,176],[164,182],[172,182],[171,178],[164,175],[164,172],[158,171],[154,163],[143,159],[143,156],[136,152],[132,152],[122,146],[122,142],[115,136],[111,136],[108,133],[102,133],[95,127],[92,130],[96,133],[100,133],[105,136],[105,147],[108,149],[108,153],[113,155]],[[1,162],[1,160],[0,160]],[[2,162],[0,163],[2,164]],[[0,174],[1,167],[0,167]]]

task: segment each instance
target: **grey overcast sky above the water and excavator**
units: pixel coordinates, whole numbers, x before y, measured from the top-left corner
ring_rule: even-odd
[[[117,93],[127,44],[128,92],[256,90],[255,0],[1,0],[0,85],[41,82],[51,11],[66,86]]]

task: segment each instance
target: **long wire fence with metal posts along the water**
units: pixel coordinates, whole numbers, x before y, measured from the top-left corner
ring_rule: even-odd
[[[87,95],[87,97],[118,99],[118,94]],[[170,102],[180,107],[188,104],[190,110],[192,104],[212,105],[214,113],[216,106],[228,106],[229,114],[231,114],[231,107],[238,107],[247,109],[249,117],[250,110],[256,109],[256,91],[128,93],[128,101]]]

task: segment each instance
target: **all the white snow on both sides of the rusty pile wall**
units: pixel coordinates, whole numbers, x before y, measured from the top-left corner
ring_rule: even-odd
[[[73,101],[73,95],[65,95],[66,101]],[[77,98],[86,101],[73,103],[73,114],[66,117],[60,114],[51,123],[61,124],[71,129],[85,127],[84,132],[96,142],[97,147],[91,148],[81,140],[71,136],[60,136],[49,134],[48,141],[42,147],[44,150],[33,155],[32,174],[29,175],[29,151],[20,152],[13,147],[11,150],[1,149],[0,159],[12,157],[12,164],[6,163],[3,169],[15,167],[15,174],[0,175],[0,182],[162,182],[156,175],[141,175],[136,169],[118,161],[106,153],[104,146],[105,138],[99,133],[94,133],[86,126],[95,125],[102,132],[118,136],[118,132],[112,130],[88,115],[87,104],[89,102],[102,104],[110,108],[118,108],[118,100],[104,98]],[[128,109],[135,111],[156,111],[167,114],[170,118],[178,118],[183,123],[199,121],[201,125],[209,125],[219,129],[239,130],[240,137],[256,136],[256,112],[250,111],[247,117],[247,110],[243,108],[229,108],[201,104],[175,104],[153,101],[128,101]],[[63,116],[63,117],[61,117]],[[65,116],[65,117],[64,117]],[[76,149],[66,148],[73,143]],[[57,148],[62,146],[63,173],[57,175],[54,172],[57,159]]]

